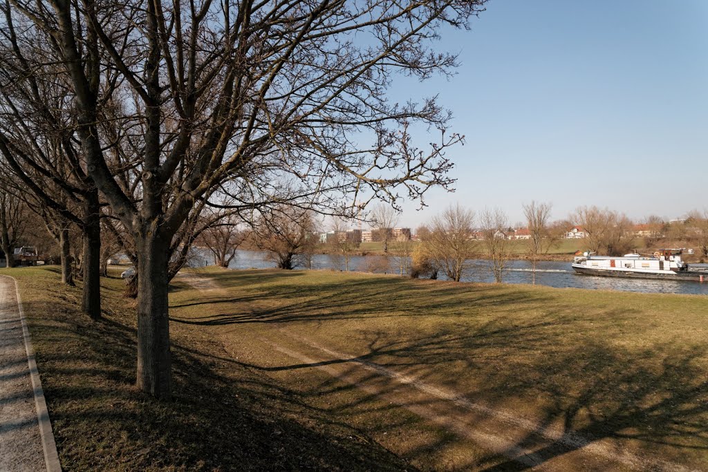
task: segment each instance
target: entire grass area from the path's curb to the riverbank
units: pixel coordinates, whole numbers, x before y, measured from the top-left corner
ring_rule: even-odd
[[[55,270],[11,272],[67,469],[708,468],[705,297],[200,270],[164,404],[119,280],[90,324]]]

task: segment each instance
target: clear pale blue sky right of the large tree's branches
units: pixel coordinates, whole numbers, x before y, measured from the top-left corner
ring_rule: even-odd
[[[404,205],[417,226],[451,202],[550,202],[554,219],[598,205],[641,219],[708,208],[707,0],[491,0],[449,81],[401,80],[394,98],[435,93],[467,144],[450,151],[455,193]],[[429,137],[420,137],[426,144]]]

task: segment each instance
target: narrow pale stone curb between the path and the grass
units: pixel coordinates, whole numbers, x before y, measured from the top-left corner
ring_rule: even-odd
[[[15,282],[15,293],[17,296],[17,309],[20,312],[20,321],[22,323],[22,335],[25,340],[25,351],[27,352],[27,364],[30,369],[30,379],[32,381],[32,391],[35,396],[35,406],[37,408],[37,421],[40,426],[40,438],[42,439],[42,450],[45,456],[45,466],[47,472],[62,472],[62,465],[59,463],[59,454],[57,453],[57,443],[54,439],[54,431],[52,430],[52,422],[49,419],[49,410],[47,410],[47,401],[45,400],[44,390],[42,389],[42,381],[40,373],[37,369],[35,361],[35,350],[30,340],[30,330],[27,327],[25,319],[25,310],[22,306],[22,298],[20,297],[20,285],[17,279],[10,275],[6,275]]]

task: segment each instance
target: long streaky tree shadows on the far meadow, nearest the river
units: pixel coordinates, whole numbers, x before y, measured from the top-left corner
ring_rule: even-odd
[[[279,274],[267,274],[270,280],[280,282]],[[476,309],[500,307],[520,301],[540,303],[544,295],[539,292],[509,292],[499,290],[493,285],[474,284],[410,284],[403,278],[390,277],[382,280],[378,277],[362,277],[339,282],[320,283],[313,292],[312,284],[296,283],[292,280],[282,284],[270,284],[265,289],[253,288],[242,280],[251,280],[253,276],[241,279],[229,275],[232,282],[224,283],[224,275],[217,280],[224,285],[234,287],[232,292],[210,295],[206,299],[193,300],[171,305],[171,308],[183,308],[199,304],[214,306],[228,304],[256,304],[268,300],[272,307],[265,309],[251,308],[248,311],[225,312],[205,316],[172,316],[171,321],[202,326],[223,326],[241,323],[286,323],[293,321],[326,321],[358,319],[363,317],[387,318],[401,316],[426,316],[432,311],[445,313],[444,316],[464,314],[465,306],[459,304],[459,294],[464,293],[465,300],[474,304]],[[234,293],[235,292],[235,293]],[[411,300],[425,299],[416,304]],[[382,311],[387,306],[387,311]]]

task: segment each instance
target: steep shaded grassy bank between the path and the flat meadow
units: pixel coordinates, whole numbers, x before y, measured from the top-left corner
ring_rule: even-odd
[[[135,383],[135,311],[102,279],[104,320],[79,316],[56,267],[0,270],[21,284],[64,470],[401,470],[396,456],[333,424],[297,393],[224,361],[199,327],[173,326],[175,400]]]

